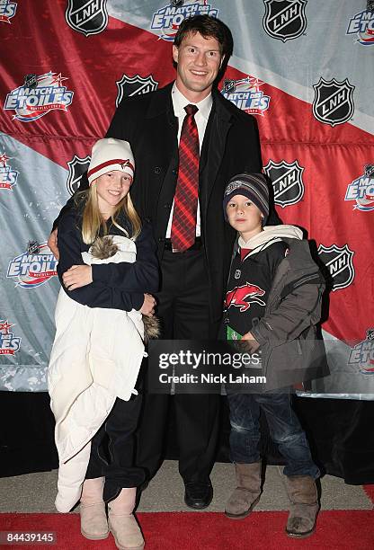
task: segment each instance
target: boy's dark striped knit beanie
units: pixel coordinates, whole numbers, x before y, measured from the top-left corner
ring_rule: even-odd
[[[223,196],[223,212],[226,221],[227,203],[235,195],[244,195],[251,200],[263,213],[263,225],[269,216],[269,189],[262,173],[238,173],[227,183]]]

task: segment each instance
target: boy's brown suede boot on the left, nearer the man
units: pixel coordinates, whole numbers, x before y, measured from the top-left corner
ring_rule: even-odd
[[[227,501],[227,518],[245,518],[260,500],[261,462],[236,464],[237,487]]]

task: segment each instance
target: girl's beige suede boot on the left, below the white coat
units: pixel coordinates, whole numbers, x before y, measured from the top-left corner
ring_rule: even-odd
[[[102,501],[104,478],[85,479],[80,503],[81,533],[90,540],[101,540],[109,535],[105,503]]]

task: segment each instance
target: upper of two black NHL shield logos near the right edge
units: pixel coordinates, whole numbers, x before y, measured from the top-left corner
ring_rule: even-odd
[[[335,126],[351,119],[354,111],[354,86],[348,82],[348,78],[343,82],[338,82],[334,78],[327,82],[321,76],[318,84],[313,84],[313,87],[313,114],[316,120]]]

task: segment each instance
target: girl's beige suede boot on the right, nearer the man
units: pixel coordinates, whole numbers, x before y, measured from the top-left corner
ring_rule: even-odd
[[[132,513],[137,488],[122,489],[119,496],[109,503],[109,528],[120,550],[142,550],[144,538]]]

